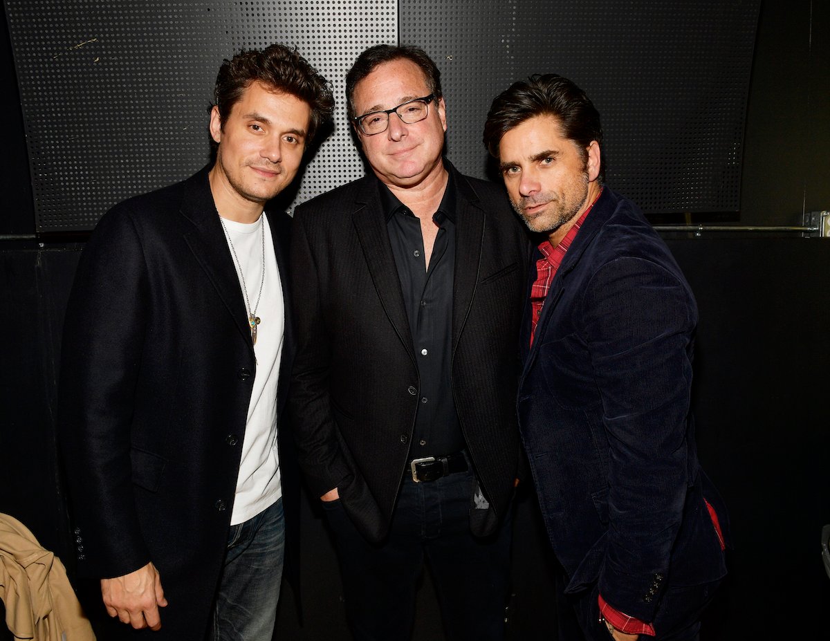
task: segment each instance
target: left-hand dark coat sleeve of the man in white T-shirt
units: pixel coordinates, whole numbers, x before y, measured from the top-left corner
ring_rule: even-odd
[[[130,464],[147,298],[139,235],[126,206],[116,206],[81,255],[61,347],[58,436],[78,568],[90,577],[125,575],[150,560]]]

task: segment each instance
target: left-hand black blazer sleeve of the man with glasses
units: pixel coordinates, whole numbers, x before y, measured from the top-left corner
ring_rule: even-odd
[[[325,259],[315,253],[307,220],[295,213],[291,240],[291,283],[297,350],[291,375],[292,427],[311,492],[320,497],[351,475],[340,447],[331,411],[329,376],[331,347],[325,324]]]

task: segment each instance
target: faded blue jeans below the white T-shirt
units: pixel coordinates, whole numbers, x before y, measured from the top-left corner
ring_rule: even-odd
[[[285,542],[282,499],[231,526],[213,608],[212,641],[271,641]]]

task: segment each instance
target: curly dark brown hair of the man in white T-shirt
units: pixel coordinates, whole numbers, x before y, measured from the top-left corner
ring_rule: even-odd
[[[320,126],[330,120],[334,112],[330,83],[296,49],[274,44],[262,51],[240,51],[231,60],[222,61],[213,90],[222,127],[231,115],[233,105],[252,82],[261,82],[308,103],[311,120],[307,143],[314,139]]]

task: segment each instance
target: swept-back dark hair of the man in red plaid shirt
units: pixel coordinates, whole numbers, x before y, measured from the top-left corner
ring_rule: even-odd
[[[537,115],[553,115],[559,120],[562,135],[579,147],[583,162],[588,160],[588,145],[596,140],[603,147],[603,126],[593,102],[573,81],[554,73],[535,74],[517,81],[493,100],[484,125],[484,146],[499,157],[501,138],[515,126]],[[599,165],[599,182],[605,180],[605,159]]]

